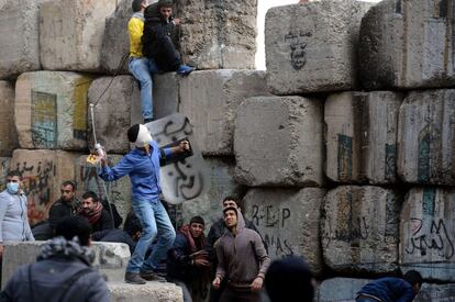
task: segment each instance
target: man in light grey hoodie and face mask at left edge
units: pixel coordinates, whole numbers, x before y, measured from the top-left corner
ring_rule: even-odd
[[[35,241],[29,224],[26,197],[18,171],[7,176],[7,189],[0,193],[0,257],[3,242]]]

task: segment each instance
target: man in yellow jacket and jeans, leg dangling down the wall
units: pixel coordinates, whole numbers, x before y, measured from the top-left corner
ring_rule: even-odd
[[[162,0],[160,0],[162,1]],[[130,34],[130,72],[141,83],[141,107],[144,124],[153,121],[153,80],[152,76],[158,71],[156,61],[143,54],[142,35],[144,32],[144,11],[148,7],[151,0],[133,0],[133,15],[127,23]],[[178,23],[179,20],[177,21]],[[176,22],[176,23],[177,23]],[[181,65],[177,74],[188,75],[193,68]]]

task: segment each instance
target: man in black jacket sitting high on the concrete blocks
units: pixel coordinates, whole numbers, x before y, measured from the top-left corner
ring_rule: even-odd
[[[181,21],[173,16],[173,0],[159,0],[148,5],[144,12],[144,34],[142,35],[143,53],[153,58],[159,70],[177,71],[187,76],[195,68],[181,64],[171,34]]]

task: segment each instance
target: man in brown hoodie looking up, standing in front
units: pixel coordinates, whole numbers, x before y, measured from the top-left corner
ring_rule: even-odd
[[[213,287],[218,289],[224,276],[229,276],[228,287],[220,302],[256,302],[260,300],[264,277],[270,258],[257,232],[245,228],[242,213],[235,208],[223,210],[226,232],[215,244],[217,277]]]

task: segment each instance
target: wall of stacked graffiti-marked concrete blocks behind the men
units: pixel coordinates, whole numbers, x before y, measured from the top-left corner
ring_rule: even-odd
[[[322,280],[320,301],[351,299],[344,298],[346,291],[333,292],[334,286],[323,287],[328,277],[354,277],[340,281],[354,291],[364,278],[411,268],[430,282],[419,299],[451,297],[454,51],[448,27],[441,26],[452,15],[444,14],[450,12],[448,5],[441,4],[444,1],[415,0],[415,5],[410,1],[384,0],[374,5],[322,0],[274,8],[266,20],[267,72],[228,69],[196,71],[187,78],[173,72],[155,76],[155,118],[186,114],[211,174],[208,193],[175,206],[175,216],[187,223],[202,214],[209,227],[221,216],[221,199],[240,194],[245,216],[263,234],[273,258],[293,254],[308,259]],[[85,93],[88,102],[97,102],[99,139],[113,154],[113,163],[129,150],[120,133],[142,122],[134,79],[100,75],[126,74],[115,63],[127,51],[126,36],[119,32],[131,13],[125,0],[95,9],[103,2],[43,2],[41,26],[33,29],[42,42],[36,53],[48,70],[22,74],[40,67],[20,69],[22,65],[13,64],[19,71],[5,72],[5,86],[15,86],[14,124],[21,149],[11,159],[7,149],[3,163],[10,160],[9,168],[25,176],[33,221],[45,217],[58,197],[59,182],[67,178],[76,178],[79,186],[84,182],[79,188],[87,183],[100,191],[95,168],[85,161],[90,138],[74,137],[74,130],[84,126],[87,134],[87,103],[82,110],[71,109],[80,98],[75,96],[81,94],[74,79],[44,82],[66,79],[71,70],[92,72]],[[185,60],[200,69],[252,67],[254,1],[241,2],[242,13],[230,1],[223,8],[202,0],[177,2],[184,16],[179,42]],[[1,14],[0,20],[4,20]],[[63,32],[73,23],[77,26]],[[374,52],[367,54],[365,48]],[[3,57],[0,66],[7,64]],[[26,60],[23,54],[20,60]],[[33,111],[31,92],[37,88],[23,85],[23,78],[45,87],[41,91],[45,93],[58,94],[55,91],[67,86],[65,93],[73,99],[63,102],[62,114]],[[420,90],[410,90],[414,88]],[[43,126],[57,125],[52,144],[34,142],[33,116],[48,119]],[[127,179],[122,181],[108,191],[115,201],[122,200],[124,214],[130,188]],[[120,297],[115,301],[131,293],[120,284],[115,290]],[[144,289],[147,297],[151,292]],[[176,294],[179,301],[180,292]]]

